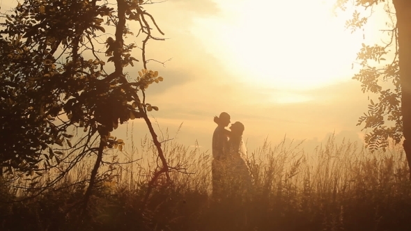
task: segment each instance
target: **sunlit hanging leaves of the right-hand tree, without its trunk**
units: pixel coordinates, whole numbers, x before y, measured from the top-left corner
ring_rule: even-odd
[[[354,1],[355,10],[352,17],[346,21],[346,28],[352,32],[362,29],[378,4],[384,6],[383,8],[389,16],[390,22],[385,25],[388,26],[388,29],[382,31],[382,44],[366,45],[362,43],[356,59],[360,70],[352,77],[352,79],[361,82],[363,93],[376,95],[375,98],[369,97],[368,111],[364,113],[364,116],[359,117],[357,123],[357,125],[362,125],[363,129],[371,129],[365,136],[367,147],[370,150],[377,148],[385,150],[389,138],[396,143],[401,142],[403,138],[398,29],[395,14],[392,13],[392,2],[383,0]],[[338,0],[335,7],[336,9],[348,10],[348,1]]]

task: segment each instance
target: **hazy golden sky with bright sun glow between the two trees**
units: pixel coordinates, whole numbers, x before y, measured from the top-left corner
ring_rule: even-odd
[[[148,64],[164,77],[147,90],[147,102],[160,108],[150,116],[172,137],[183,123],[177,141],[198,141],[202,150],[210,149],[212,118],[222,111],[243,122],[250,151],[266,137],[275,144],[285,135],[307,139],[308,148],[332,132],[359,141],[355,125],[367,95],[351,79],[351,64],[363,34],[344,31],[350,15],[332,17],[326,2],[168,0],[146,6],[169,38],[150,42],[148,57],[172,58],[165,67]],[[7,5],[3,0],[2,10]],[[370,22],[365,41],[378,41],[385,18]],[[148,133],[143,121],[134,126],[134,137]]]

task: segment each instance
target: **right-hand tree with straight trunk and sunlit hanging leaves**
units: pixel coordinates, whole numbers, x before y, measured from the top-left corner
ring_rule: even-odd
[[[372,129],[365,141],[371,150],[387,147],[388,139],[403,141],[411,177],[411,1],[408,0],[355,0],[359,10],[346,22],[355,31],[369,19],[359,11],[373,13],[376,6],[384,6],[391,22],[382,30],[387,41],[382,45],[365,45],[357,54],[361,70],[353,79],[362,83],[363,93],[378,95],[370,100],[369,110],[359,118],[357,125]],[[338,0],[336,8],[347,10],[348,0]],[[394,9],[393,9],[394,6]],[[394,13],[395,10],[395,13]],[[388,87],[387,87],[388,86]]]

